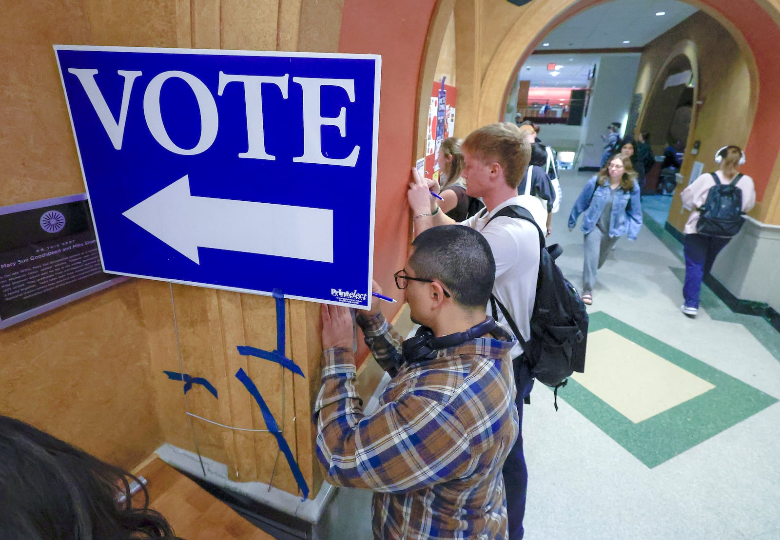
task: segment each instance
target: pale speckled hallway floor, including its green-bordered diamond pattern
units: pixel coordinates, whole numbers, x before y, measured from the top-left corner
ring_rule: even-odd
[[[561,173],[548,242],[579,287],[566,219],[593,173]],[[780,333],[707,286],[698,317],[680,313],[682,244],[649,221],[598,273],[586,373],[557,413],[531,394],[526,538],[780,538]]]

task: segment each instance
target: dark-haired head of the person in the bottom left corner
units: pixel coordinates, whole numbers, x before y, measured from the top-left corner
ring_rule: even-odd
[[[119,467],[0,416],[2,540],[177,538],[165,517],[148,508],[145,486],[144,506],[133,508],[132,481]]]

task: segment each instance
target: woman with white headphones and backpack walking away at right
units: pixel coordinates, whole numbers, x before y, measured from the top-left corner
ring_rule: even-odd
[[[743,223],[741,214],[756,204],[753,179],[739,172],[739,165],[745,163],[745,153],[737,146],[725,146],[715,152],[715,163],[720,165],[718,171],[699,176],[680,194],[683,207],[692,210],[683,229],[686,235],[685,303],[680,306],[680,311],[690,318],[695,318],[699,310],[704,275],[710,273],[715,257],[739,231]],[[718,188],[713,189],[716,186]],[[713,197],[711,204],[707,204],[709,197]],[[715,199],[718,208],[711,208]]]

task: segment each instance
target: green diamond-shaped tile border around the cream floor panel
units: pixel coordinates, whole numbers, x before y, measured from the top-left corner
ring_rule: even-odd
[[[589,332],[601,329],[610,329],[715,386],[638,424],[573,379],[558,392],[647,467],[657,467],[778,401],[608,314],[590,314]]]

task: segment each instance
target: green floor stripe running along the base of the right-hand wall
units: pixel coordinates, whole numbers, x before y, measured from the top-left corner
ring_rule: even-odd
[[[644,215],[643,224],[647,230],[653,233],[653,236],[658,238],[658,240],[661,240],[661,243],[663,243],[681,263],[685,264],[683,244],[672,236],[672,233],[669,233],[664,226],[659,225],[658,222],[648,215]],[[681,283],[685,281],[685,268],[670,268],[672,273],[677,276]],[[682,286],[680,287],[680,303],[683,303]],[[753,337],[755,337],[759,343],[775,357],[775,360],[780,362],[780,333],[778,333],[764,318],[756,317],[755,315],[735,313],[705,284],[702,284],[701,286],[700,307],[704,307],[713,321],[732,322],[743,325],[747,331],[753,334]]]

